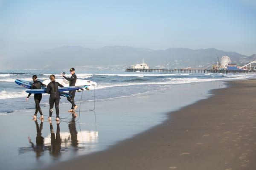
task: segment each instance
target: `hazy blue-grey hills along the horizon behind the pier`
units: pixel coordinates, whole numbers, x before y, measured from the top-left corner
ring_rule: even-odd
[[[84,48],[81,46],[62,46],[35,54],[23,56],[12,62],[15,68],[69,68],[84,65],[132,65],[145,62],[151,67],[160,65],[166,68],[204,68],[227,55],[233,63],[239,63],[247,56],[215,48],[192,50],[189,48],[168,48],[152,50],[127,46],[105,46],[103,48]]]

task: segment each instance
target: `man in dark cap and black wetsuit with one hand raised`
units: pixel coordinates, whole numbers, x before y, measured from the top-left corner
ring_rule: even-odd
[[[70,78],[64,76],[64,74],[61,74],[62,77],[64,77],[64,79],[68,80],[69,86],[75,86],[76,85],[76,73],[75,73],[75,68],[70,68],[70,74],[72,75]],[[76,111],[76,108],[78,107],[75,104],[75,94],[76,94],[76,90],[72,90],[68,92],[70,94],[70,97],[67,97],[67,100],[71,103],[71,109],[69,110],[69,112],[73,112]]]

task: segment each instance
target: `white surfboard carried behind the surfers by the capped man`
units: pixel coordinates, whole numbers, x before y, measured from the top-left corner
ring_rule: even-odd
[[[43,84],[48,85],[49,82],[51,82],[51,80],[47,79],[43,81]],[[64,87],[69,87],[69,81],[64,78],[56,78],[55,82],[60,83]],[[76,79],[76,86],[84,86],[84,85],[88,86],[86,90],[92,90],[97,85],[97,83],[90,80],[86,80],[86,79]]]

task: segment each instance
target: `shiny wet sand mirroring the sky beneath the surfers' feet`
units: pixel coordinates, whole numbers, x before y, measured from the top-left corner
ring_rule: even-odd
[[[31,120],[33,109],[1,115],[1,168],[41,169],[108,150],[160,125],[170,111],[209,97],[210,89],[223,87],[223,82],[174,85],[163,91],[97,100],[95,110],[89,111],[94,108],[92,100],[82,103],[81,110],[88,112],[76,112],[76,118],[67,112],[70,105],[62,104],[60,117],[67,118],[59,125],[47,122],[48,107],[42,108],[44,122]]]

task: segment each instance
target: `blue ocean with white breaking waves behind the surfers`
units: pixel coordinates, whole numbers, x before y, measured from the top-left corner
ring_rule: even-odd
[[[22,79],[32,82],[35,74],[43,81],[49,79],[49,75],[55,74],[61,77],[62,71],[52,70],[1,70],[0,71],[0,114],[9,114],[17,111],[35,108],[33,95],[26,102],[25,88],[20,87],[14,81]],[[137,73],[125,71],[76,71],[81,79],[88,79],[98,85],[95,90],[76,92],[75,101],[78,103],[92,100],[108,100],[113,98],[134,96],[148,91],[165,90],[180,84],[194,82],[209,82],[220,80],[248,79],[255,77],[254,74],[166,74],[166,73]],[[66,75],[70,77],[70,75]],[[44,94],[41,107],[49,105],[49,96]],[[61,97],[62,104],[69,103]]]

